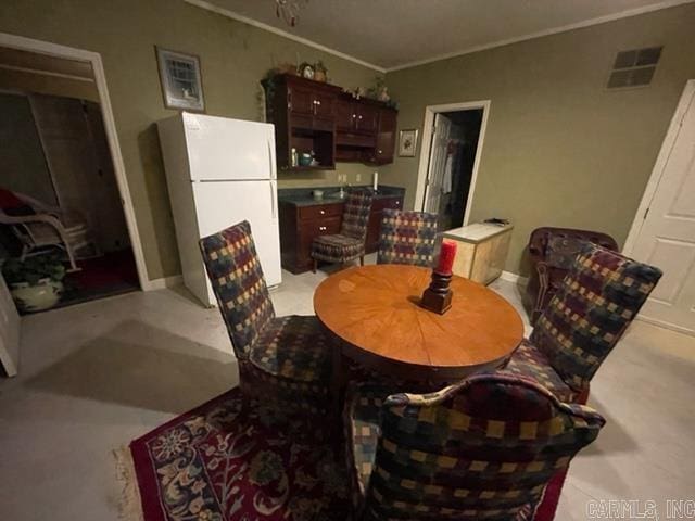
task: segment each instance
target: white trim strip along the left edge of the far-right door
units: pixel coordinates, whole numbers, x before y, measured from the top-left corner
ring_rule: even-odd
[[[664,176],[666,164],[675,144],[675,138],[678,138],[681,123],[685,117],[685,112],[693,101],[694,96],[695,79],[688,79],[685,84],[685,88],[683,89],[683,93],[681,94],[681,99],[678,102],[675,112],[673,113],[673,117],[671,117],[671,123],[669,124],[669,128],[666,131],[666,137],[664,138],[664,142],[661,143],[659,155],[657,155],[656,157],[656,163],[654,164],[654,168],[652,169],[652,174],[649,175],[649,180],[647,181],[644,193],[642,194],[640,206],[637,206],[637,211],[635,212],[634,218],[632,219],[632,226],[630,227],[628,238],[626,239],[626,244],[622,249],[622,253],[627,256],[632,255],[635,243],[637,242],[637,238],[640,237],[640,232],[642,231],[642,226],[644,225],[644,221],[646,219],[647,211],[649,209],[649,206],[652,206],[652,201],[654,200],[656,191],[659,188],[659,182],[661,181],[661,177]]]

